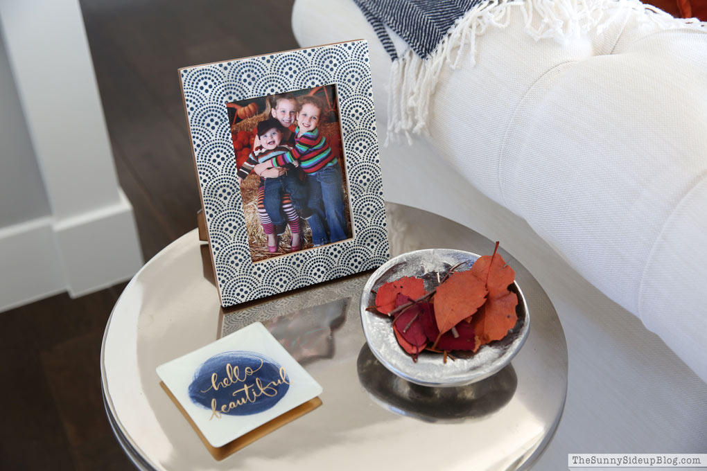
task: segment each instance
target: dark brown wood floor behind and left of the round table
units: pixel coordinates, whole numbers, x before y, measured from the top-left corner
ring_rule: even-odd
[[[148,260],[196,227],[177,68],[298,47],[291,0],[81,0],[125,193]],[[125,284],[2,314],[0,470],[128,470],[105,417],[100,343]]]

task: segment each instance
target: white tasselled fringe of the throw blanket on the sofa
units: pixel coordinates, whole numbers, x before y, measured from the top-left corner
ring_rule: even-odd
[[[431,97],[442,68],[457,68],[468,56],[476,59],[476,37],[489,26],[506,28],[510,23],[511,8],[520,8],[525,18],[525,32],[534,40],[552,38],[563,42],[580,37],[592,29],[601,33],[622,13],[633,10],[644,23],[652,23],[668,30],[693,28],[707,31],[707,23],[696,18],[674,18],[665,11],[639,0],[489,0],[472,8],[462,16],[427,59],[421,59],[407,48],[393,61],[390,70],[390,99],[388,100],[388,137],[410,132],[427,133],[427,119]],[[534,18],[542,18],[537,28]],[[537,22],[536,22],[537,23]],[[408,97],[403,100],[402,97]]]

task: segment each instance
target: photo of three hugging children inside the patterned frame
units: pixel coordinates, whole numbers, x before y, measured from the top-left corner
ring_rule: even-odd
[[[335,85],[226,106],[252,261],[351,239]]]

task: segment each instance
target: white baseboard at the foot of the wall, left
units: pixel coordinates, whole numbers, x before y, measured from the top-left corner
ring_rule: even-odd
[[[142,266],[132,205],[0,229],[0,311],[68,291],[82,296],[129,280]]]

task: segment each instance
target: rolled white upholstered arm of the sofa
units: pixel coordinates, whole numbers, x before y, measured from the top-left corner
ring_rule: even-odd
[[[629,16],[549,54],[520,38],[527,50],[499,51],[498,32],[477,38],[477,66],[440,77],[431,138],[707,381],[707,31]],[[510,77],[524,74],[521,94]],[[495,85],[499,75],[509,83]],[[450,126],[462,87],[486,101],[464,104],[473,124]]]

